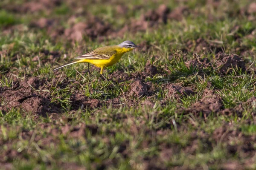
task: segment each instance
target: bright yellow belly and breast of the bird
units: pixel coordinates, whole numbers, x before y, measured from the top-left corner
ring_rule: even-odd
[[[123,54],[124,53],[114,54],[110,59],[81,59],[81,62],[89,62],[96,67],[108,67],[118,62]]]

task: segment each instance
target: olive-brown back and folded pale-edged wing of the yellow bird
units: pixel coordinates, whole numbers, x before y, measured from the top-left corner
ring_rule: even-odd
[[[114,46],[100,47],[84,55],[75,57],[75,59],[110,59],[111,56],[116,54],[115,49]]]

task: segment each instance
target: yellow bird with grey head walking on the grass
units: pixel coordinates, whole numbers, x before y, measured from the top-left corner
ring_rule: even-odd
[[[60,67],[55,68],[53,71],[56,71],[68,65],[87,62],[89,74],[90,74],[90,68],[89,68],[89,63],[90,63],[95,65],[96,67],[101,68],[100,74],[102,75],[103,69],[105,67],[109,67],[115,64],[116,62],[119,61],[119,59],[122,57],[123,54],[127,53],[128,51],[132,51],[134,48],[141,48],[141,47],[138,45],[135,45],[133,42],[129,40],[126,40],[119,45],[108,45],[105,47],[99,47],[94,49],[93,51],[85,53],[84,55],[75,57],[74,58],[76,59],[75,61],[61,65]]]

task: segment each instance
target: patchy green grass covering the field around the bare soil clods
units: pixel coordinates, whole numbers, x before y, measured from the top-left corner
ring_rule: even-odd
[[[4,0],[0,7],[12,3],[22,5],[25,1]],[[64,34],[57,38],[50,35],[56,28],[71,28],[68,20],[72,16],[76,16],[76,22],[87,22],[88,13],[118,31],[131,23],[131,18],[139,20],[141,14],[162,3],[171,11],[186,5],[189,14],[180,21],[157,23],[156,28],[144,32],[128,30],[123,37],[91,40],[84,35],[81,42],[73,42]],[[256,23],[240,12],[250,3],[249,0],[233,3],[221,0],[221,6],[215,8],[202,0],[148,3],[122,0],[119,5],[128,8],[124,14],[118,14],[116,3],[82,1],[74,6],[61,3],[38,13],[1,10],[1,166],[3,164],[5,168],[11,164],[13,169],[20,170],[80,167],[110,170],[146,167],[221,169],[227,162],[236,162],[248,169],[255,168],[252,154],[256,149],[256,104],[247,100],[256,96]],[[138,9],[134,9],[135,6]],[[255,17],[255,14],[251,15]],[[30,23],[41,17],[58,23],[49,30],[33,28]],[[15,26],[20,24],[26,29],[16,29]],[[205,40],[210,47],[198,50],[198,38]],[[125,54],[120,62],[105,68],[104,75],[111,77],[116,71],[121,71],[133,77],[144,72],[150,61],[159,74],[138,79],[151,83],[151,96],[129,95],[131,83],[135,80],[116,83],[116,77],[112,77],[113,80],[105,81],[94,66],[90,67],[94,77],[80,73],[87,69],[87,64],[71,65],[58,73],[52,71],[86,51],[119,44],[123,40],[142,44],[143,49]],[[192,43],[190,47],[188,41]],[[207,57],[214,65],[215,54],[220,48],[227,54],[242,56],[247,71],[234,68],[233,73],[220,75],[216,68],[200,70],[198,65],[186,65],[187,61],[194,59],[193,53]],[[45,50],[58,51],[60,56],[54,58],[45,54]],[[12,91],[17,81],[22,83],[29,77],[37,77],[44,84],[39,88],[28,87],[33,94],[46,96],[44,102],[49,102],[50,111],[44,115],[28,112],[22,106],[4,109],[9,103],[2,97],[2,93],[6,93],[3,89]],[[179,99],[168,96],[167,83],[191,87],[195,95],[180,96]],[[201,101],[206,88],[214,90],[221,98],[222,110],[236,108],[239,113],[213,112],[204,117],[179,111]],[[88,101],[74,105],[73,94],[77,93],[81,93],[81,100]],[[118,104],[115,104],[116,98]],[[90,107],[90,101],[98,101],[99,105]],[[219,131],[221,135],[218,136]],[[235,152],[232,152],[232,147],[236,148]],[[247,153],[244,147],[249,148]]]

